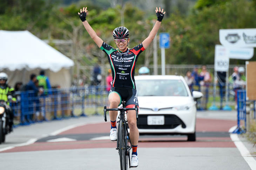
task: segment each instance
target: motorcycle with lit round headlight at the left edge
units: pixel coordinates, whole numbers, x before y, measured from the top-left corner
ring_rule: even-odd
[[[8,101],[11,101],[12,96],[8,96]],[[7,107],[9,107],[6,101],[0,101],[0,144],[5,142],[5,135],[10,133],[9,127],[9,114],[7,113]]]

